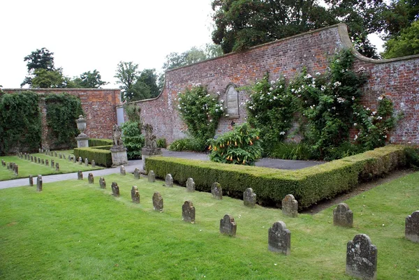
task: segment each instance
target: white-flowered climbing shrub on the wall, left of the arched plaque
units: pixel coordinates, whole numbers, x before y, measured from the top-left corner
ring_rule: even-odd
[[[223,100],[218,103],[205,87],[194,86],[179,93],[177,101],[179,115],[188,126],[189,135],[205,145],[208,139],[214,137],[223,115]]]

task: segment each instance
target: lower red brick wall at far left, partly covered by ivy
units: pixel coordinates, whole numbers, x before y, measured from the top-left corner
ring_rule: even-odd
[[[90,138],[112,138],[112,126],[117,124],[118,105],[121,105],[120,89],[3,89],[5,93],[34,91],[38,94],[61,94],[78,96],[87,119],[86,133]],[[46,125],[45,101],[39,103],[42,114],[42,147],[52,147]]]

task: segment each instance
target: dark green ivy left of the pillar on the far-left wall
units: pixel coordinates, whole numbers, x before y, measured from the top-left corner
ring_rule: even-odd
[[[38,94],[25,91],[0,96],[0,154],[34,151],[41,145]]]

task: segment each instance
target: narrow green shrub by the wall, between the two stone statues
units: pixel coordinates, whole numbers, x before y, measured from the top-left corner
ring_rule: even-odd
[[[141,159],[141,149],[145,143],[144,135],[141,135],[141,124],[136,121],[126,121],[121,128],[128,159]]]

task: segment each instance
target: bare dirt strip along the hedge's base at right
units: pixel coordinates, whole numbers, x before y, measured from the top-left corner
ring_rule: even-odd
[[[359,184],[354,189],[349,191],[348,193],[342,193],[338,196],[335,196],[335,198],[332,198],[330,200],[321,200],[316,205],[312,205],[311,207],[302,210],[302,214],[317,214],[318,212],[323,211],[324,209],[327,209],[329,207],[332,207],[333,205],[337,205],[340,202],[343,202],[344,200],[347,200],[349,198],[352,198],[353,196],[358,196],[358,194],[363,193],[364,191],[368,191],[370,189],[374,189],[376,186],[379,186],[381,184],[390,182],[394,179],[409,175],[413,172],[416,172],[416,170],[395,170],[391,173],[389,173],[387,176],[376,179],[372,182],[365,182],[362,184]]]

